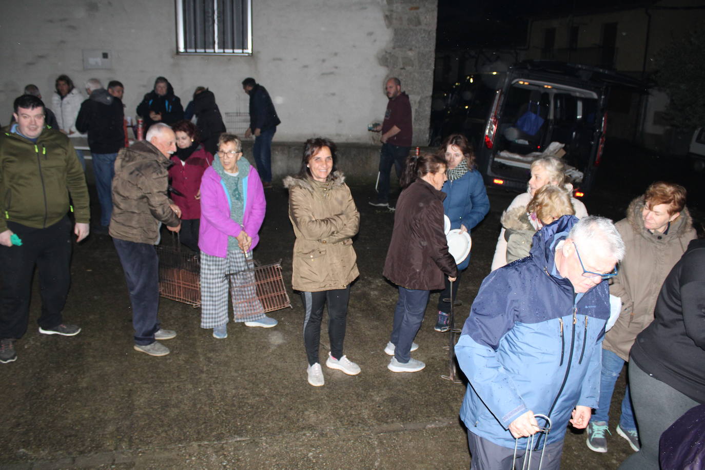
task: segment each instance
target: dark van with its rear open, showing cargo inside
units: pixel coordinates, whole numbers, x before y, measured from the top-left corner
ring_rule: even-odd
[[[470,136],[486,185],[524,191],[531,162],[558,142],[553,147],[563,144],[574,195],[584,196],[604,147],[610,87],[643,89],[642,83],[610,70],[555,61],[525,61],[503,75],[484,132]]]

